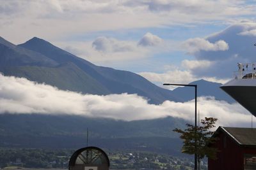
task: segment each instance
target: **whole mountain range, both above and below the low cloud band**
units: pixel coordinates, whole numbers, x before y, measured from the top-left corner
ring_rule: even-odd
[[[194,99],[193,88],[162,89],[136,73],[96,66],[40,38],[13,45],[0,37],[0,72],[83,94],[138,94],[147,97],[151,104]],[[214,96],[234,103],[220,90],[220,83],[198,80],[191,84],[198,85],[198,96]],[[185,124],[184,120],[172,117],[125,122],[71,115],[6,113],[0,115],[0,146],[78,147],[83,145],[84,132],[89,127],[95,145],[143,150],[146,147],[146,150],[178,153],[181,141],[172,129]],[[168,141],[173,145],[168,145]]]

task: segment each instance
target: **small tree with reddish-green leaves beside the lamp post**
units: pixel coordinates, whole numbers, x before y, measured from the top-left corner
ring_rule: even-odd
[[[201,125],[194,126],[186,124],[187,129],[174,129],[174,132],[180,133],[180,138],[183,139],[184,145],[182,146],[182,153],[195,154],[197,155],[198,167],[200,167],[200,160],[205,156],[210,159],[216,159],[218,150],[212,148],[211,144],[214,143],[217,138],[213,138],[212,134],[214,131],[210,131],[215,127],[215,123],[218,119],[212,117],[205,117],[201,120]],[[196,133],[195,133],[196,130]],[[195,144],[196,143],[196,144]]]

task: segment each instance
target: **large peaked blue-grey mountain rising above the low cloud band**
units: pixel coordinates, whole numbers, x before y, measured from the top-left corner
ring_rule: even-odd
[[[16,46],[1,38],[0,45],[0,60],[8,61],[0,65],[4,75],[25,77],[83,94],[127,92],[147,97],[148,102],[154,104],[165,100],[182,101],[170,90],[157,87],[138,74],[95,66],[44,39],[32,38]]]

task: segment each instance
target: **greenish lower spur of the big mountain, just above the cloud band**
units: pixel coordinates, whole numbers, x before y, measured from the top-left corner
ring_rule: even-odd
[[[4,75],[25,77],[38,83],[46,83],[61,90],[82,92],[83,94],[109,94],[101,83],[85,73],[72,62],[58,67],[19,66],[4,69]]]

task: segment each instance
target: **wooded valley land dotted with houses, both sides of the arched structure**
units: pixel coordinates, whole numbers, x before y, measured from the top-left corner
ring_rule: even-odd
[[[0,148],[0,168],[61,168],[67,169],[72,149],[32,149],[32,148]],[[110,160],[111,169],[193,169],[189,158],[154,152],[138,152],[132,150],[105,150]],[[207,169],[205,162],[202,169]]]

